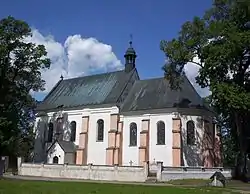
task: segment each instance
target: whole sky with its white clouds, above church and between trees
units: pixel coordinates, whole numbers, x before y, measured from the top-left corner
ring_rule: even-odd
[[[177,37],[184,22],[211,5],[212,0],[2,0],[0,18],[26,21],[33,34],[27,40],[45,45],[52,62],[42,73],[46,90],[33,93],[42,100],[61,74],[72,78],[122,69],[130,34],[140,78],[162,77],[160,41]],[[195,84],[198,67],[188,64],[185,71],[198,93],[208,95]]]

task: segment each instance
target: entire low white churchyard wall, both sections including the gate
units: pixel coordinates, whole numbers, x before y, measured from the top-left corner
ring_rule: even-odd
[[[209,179],[216,171],[222,172],[228,179],[232,177],[231,169],[164,167],[162,162],[151,165],[147,162],[144,166],[54,165],[22,163],[21,158],[18,158],[18,175],[48,178],[145,182],[153,176],[157,182],[166,182],[177,179]]]

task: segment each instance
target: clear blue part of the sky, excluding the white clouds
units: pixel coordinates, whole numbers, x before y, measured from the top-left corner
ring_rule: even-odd
[[[144,79],[163,75],[160,40],[176,37],[185,21],[201,16],[211,4],[212,0],[8,0],[1,2],[0,17],[25,20],[61,44],[70,35],[94,37],[111,45],[122,62],[132,33],[136,65]]]

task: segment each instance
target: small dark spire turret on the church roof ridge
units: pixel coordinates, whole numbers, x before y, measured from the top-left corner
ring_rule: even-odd
[[[127,49],[125,58],[125,72],[130,72],[135,68],[136,52],[132,46],[132,35],[130,35],[129,48]]]

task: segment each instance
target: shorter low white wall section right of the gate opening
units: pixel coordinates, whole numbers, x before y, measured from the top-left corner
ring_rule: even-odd
[[[216,172],[220,171],[227,179],[232,178],[232,169],[203,168],[203,167],[164,167],[161,162],[157,163],[157,181],[166,182],[182,179],[210,179]]]

